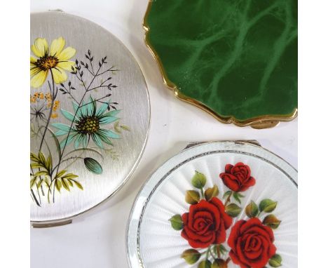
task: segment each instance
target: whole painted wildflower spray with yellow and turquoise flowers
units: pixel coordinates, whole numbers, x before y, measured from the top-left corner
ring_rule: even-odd
[[[95,60],[90,49],[84,54],[83,60],[76,59],[72,62],[69,59],[76,51],[64,46],[65,40],[62,37],[53,40],[50,48],[46,39],[42,38],[35,39],[31,46],[34,53],[30,66],[31,85],[34,88],[43,87],[30,95],[31,138],[39,145],[30,154],[29,188],[32,200],[40,207],[45,199],[48,203],[55,203],[55,196],[63,190],[83,190],[81,178],[68,168],[71,164],[79,161],[88,172],[102,174],[103,155],[108,154],[113,160],[119,157],[111,139],[120,138],[123,131],[130,131],[116,117],[120,112],[116,108],[118,102],[111,102],[111,91],[117,88],[111,80],[111,74],[118,69],[114,65],[108,68],[107,55]],[[66,74],[65,71],[69,73]],[[86,72],[88,77],[83,76]],[[72,76],[73,81],[67,79],[67,76]],[[44,81],[47,79],[49,83],[45,85]],[[69,81],[64,83],[65,80]],[[100,88],[102,91],[97,92]],[[95,92],[97,98],[92,98]],[[60,98],[69,102],[62,102]],[[74,100],[73,113],[60,110],[71,100]],[[63,115],[62,119],[69,120],[68,124],[55,123],[59,110]],[[112,122],[113,131],[106,127]],[[50,128],[51,125],[55,128],[55,133]],[[63,140],[60,142],[58,137],[61,136]],[[88,147],[91,139],[96,147]],[[74,148],[67,146],[73,141]],[[80,145],[82,148],[78,148]],[[76,155],[77,151],[83,155]],[[95,154],[90,156],[89,152]]]

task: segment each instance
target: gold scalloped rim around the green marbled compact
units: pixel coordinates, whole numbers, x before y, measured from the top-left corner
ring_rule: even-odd
[[[207,107],[203,102],[200,102],[198,100],[195,100],[193,98],[189,98],[188,96],[184,95],[179,91],[177,88],[177,85],[170,81],[168,78],[168,74],[166,74],[165,69],[163,67],[163,63],[160,60],[158,54],[156,53],[155,48],[151,46],[151,43],[149,41],[149,32],[150,32],[150,27],[147,23],[147,18],[149,15],[149,11],[151,10],[151,3],[154,0],[149,0],[148,6],[146,13],[144,15],[144,20],[143,20],[143,27],[144,27],[144,42],[146,43],[146,46],[149,48],[149,51],[151,52],[151,55],[153,55],[153,58],[156,60],[157,65],[160,69],[160,74],[162,75],[163,82],[167,88],[169,88],[171,91],[175,93],[175,96],[179,100],[183,100],[184,102],[188,102],[191,105],[195,105],[196,107],[202,109],[203,111],[207,112],[208,114],[211,114],[219,120],[221,123],[233,123],[235,126],[252,126],[252,128],[257,128],[257,129],[263,129],[263,128],[273,128],[274,126],[277,126],[278,123],[282,121],[292,121],[293,119],[296,118],[297,116],[297,108],[294,109],[294,111],[290,114],[286,115],[264,115],[264,116],[258,116],[254,117],[252,119],[247,119],[247,120],[238,120],[235,119],[234,116],[221,116],[217,112],[214,112],[210,107]]]

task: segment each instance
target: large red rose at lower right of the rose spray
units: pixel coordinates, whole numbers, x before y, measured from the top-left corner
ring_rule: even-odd
[[[254,217],[250,220],[239,220],[231,228],[228,238],[230,257],[233,263],[242,268],[263,268],[275,255],[272,229]]]

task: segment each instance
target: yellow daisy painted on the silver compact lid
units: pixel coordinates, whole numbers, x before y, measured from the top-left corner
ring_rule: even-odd
[[[46,81],[49,70],[53,74],[55,83],[66,81],[67,74],[64,70],[71,71],[71,67],[74,67],[75,62],[69,61],[69,59],[75,55],[76,50],[70,46],[67,48],[64,48],[64,46],[65,39],[59,37],[51,42],[49,51],[46,39],[35,39],[31,49],[37,58],[33,56],[30,58],[32,87],[39,88],[42,86]]]

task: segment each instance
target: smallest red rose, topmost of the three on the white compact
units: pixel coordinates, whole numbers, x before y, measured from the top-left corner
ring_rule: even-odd
[[[226,172],[221,173],[220,177],[224,185],[233,192],[244,192],[250,186],[255,185],[255,179],[251,177],[250,173],[250,167],[240,162],[236,163],[235,166],[227,164]]]

